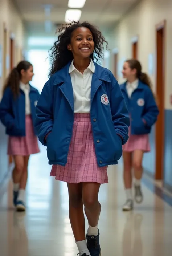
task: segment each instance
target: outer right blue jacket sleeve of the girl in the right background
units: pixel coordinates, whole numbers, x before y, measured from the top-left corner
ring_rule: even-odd
[[[146,91],[145,114],[142,118],[146,121],[146,125],[151,127],[157,121],[159,110],[155,102],[155,98],[150,88]]]

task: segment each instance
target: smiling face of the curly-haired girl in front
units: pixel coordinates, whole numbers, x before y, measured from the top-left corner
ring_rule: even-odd
[[[75,29],[71,36],[71,43],[67,46],[73,57],[88,58],[94,52],[94,42],[91,31],[85,27]]]

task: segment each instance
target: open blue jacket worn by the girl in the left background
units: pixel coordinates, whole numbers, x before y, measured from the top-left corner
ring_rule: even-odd
[[[34,126],[35,108],[40,96],[38,90],[30,85],[30,108]],[[15,99],[11,88],[7,87],[0,103],[0,120],[10,136],[25,136],[25,94],[20,89],[20,95]],[[34,128],[36,135],[36,129]]]

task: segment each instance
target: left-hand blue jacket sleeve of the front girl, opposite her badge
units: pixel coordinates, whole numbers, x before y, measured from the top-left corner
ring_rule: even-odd
[[[52,131],[53,128],[53,93],[49,81],[44,85],[38,99],[34,126],[39,141],[42,145],[46,146],[45,136]]]

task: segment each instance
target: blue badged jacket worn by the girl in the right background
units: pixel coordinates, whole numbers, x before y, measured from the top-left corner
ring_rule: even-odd
[[[129,98],[126,85],[127,82],[120,85],[120,88],[130,113],[131,134],[148,134],[159,114],[153,93],[148,85],[139,81],[138,88]]]

